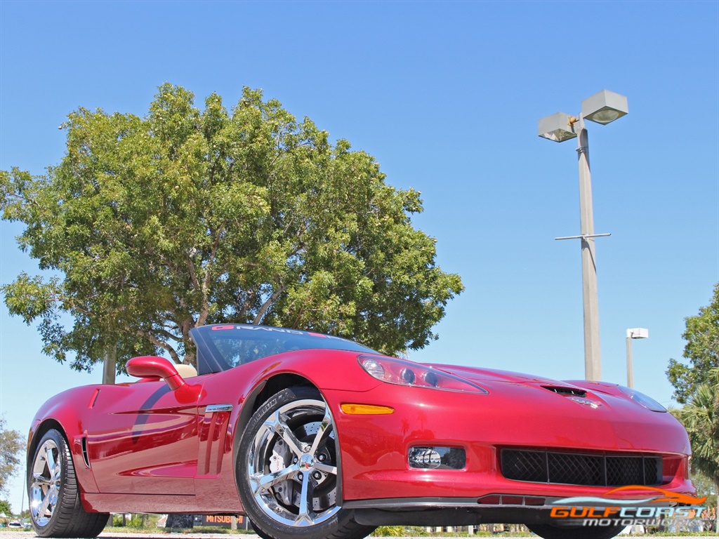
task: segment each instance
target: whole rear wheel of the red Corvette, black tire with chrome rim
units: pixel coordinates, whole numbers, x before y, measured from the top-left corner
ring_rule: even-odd
[[[55,429],[37,444],[27,470],[27,493],[32,528],[40,537],[96,537],[110,516],[83,508],[70,449]]]

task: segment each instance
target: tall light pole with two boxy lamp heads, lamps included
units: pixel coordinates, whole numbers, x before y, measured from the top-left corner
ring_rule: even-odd
[[[578,137],[577,157],[580,171],[580,235],[557,239],[582,240],[582,301],[584,304],[585,378],[602,379],[602,359],[599,344],[599,299],[597,294],[597,259],[592,209],[592,175],[589,166],[589,138],[585,120],[609,124],[629,111],[627,98],[608,90],[595,93],[582,101],[579,116],[557,112],[539,120],[539,136],[554,142]]]

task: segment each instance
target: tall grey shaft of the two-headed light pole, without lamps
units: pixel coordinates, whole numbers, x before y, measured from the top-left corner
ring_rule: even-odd
[[[592,209],[592,172],[589,165],[589,136],[580,114],[574,124],[577,131],[577,157],[580,169],[580,229],[582,239],[582,304],[584,306],[585,378],[602,379],[602,356],[599,344],[599,295],[597,292],[597,258]]]

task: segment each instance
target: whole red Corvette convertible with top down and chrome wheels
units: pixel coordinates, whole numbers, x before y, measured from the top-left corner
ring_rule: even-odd
[[[109,512],[243,512],[265,539],[480,522],[600,539],[623,526],[563,527],[552,503],[694,493],[684,428],[626,387],[418,364],[292,329],[191,336],[197,370],[137,357],[137,382],[42,405],[27,458],[38,535],[94,537]]]

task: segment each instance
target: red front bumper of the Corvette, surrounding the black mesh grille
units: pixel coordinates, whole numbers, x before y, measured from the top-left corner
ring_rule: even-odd
[[[383,505],[382,511],[392,512],[391,505],[400,500],[406,509],[426,511],[432,500],[442,500],[433,510],[454,507],[471,515],[509,510],[540,518],[546,504],[482,507],[477,500],[491,494],[601,496],[611,488],[506,479],[500,467],[503,448],[660,456],[659,486],[695,492],[688,479],[690,445],[682,425],[668,413],[654,413],[618,397],[596,396],[602,405],[595,409],[523,384],[503,384],[500,390],[490,389],[490,395],[380,384],[361,393],[328,391],[325,398],[341,450],[344,507],[370,511]],[[347,402],[390,406],[395,412],[347,415],[339,409]],[[408,464],[413,446],[463,448],[466,465],[461,470],[413,469]],[[526,517],[521,522],[527,522]]]

